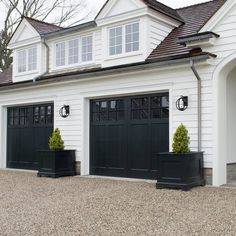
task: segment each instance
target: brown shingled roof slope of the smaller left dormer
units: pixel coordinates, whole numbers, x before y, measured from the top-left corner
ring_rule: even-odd
[[[55,31],[59,31],[61,29],[63,29],[60,26],[54,25],[54,24],[49,24],[40,20],[36,20],[30,17],[23,17],[25,18],[31,26],[33,26],[33,28],[40,34],[40,35],[45,35],[48,33],[52,33]]]

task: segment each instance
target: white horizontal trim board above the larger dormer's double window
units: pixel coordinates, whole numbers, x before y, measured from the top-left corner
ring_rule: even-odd
[[[142,17],[144,15],[147,15],[147,7],[134,10],[134,11],[129,11],[126,13],[122,13],[116,16],[110,16],[110,17],[106,17],[100,20],[96,20],[96,23],[98,27],[101,27],[105,25],[114,24],[120,21],[130,20],[132,18]]]

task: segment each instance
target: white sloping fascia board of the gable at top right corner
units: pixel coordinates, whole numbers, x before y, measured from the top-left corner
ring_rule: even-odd
[[[222,18],[233,8],[236,4],[235,0],[228,0],[224,5],[210,18],[210,20],[201,28],[199,33],[206,31],[213,31],[215,26],[222,20]]]

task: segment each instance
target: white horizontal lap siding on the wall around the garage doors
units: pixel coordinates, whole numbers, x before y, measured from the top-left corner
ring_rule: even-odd
[[[204,68],[203,68],[204,69]],[[212,105],[212,90],[207,76],[203,81],[203,100],[207,107]],[[53,85],[45,88],[30,88],[22,92],[0,95],[0,101],[4,105],[9,100],[21,100],[28,98],[34,101],[35,98],[47,97],[55,100],[55,127],[61,129],[66,148],[77,150],[77,160],[83,160],[83,98],[107,96],[113,94],[135,94],[137,92],[150,93],[160,89],[172,88],[172,133],[181,123],[189,128],[191,136],[191,148],[197,149],[197,81],[188,67],[174,68],[167,70],[141,71],[137,73],[124,74],[119,76],[107,76],[96,78],[92,81],[78,81],[71,84]],[[43,96],[42,96],[43,94]],[[175,101],[180,95],[189,96],[189,108],[185,112],[177,111]],[[117,96],[117,95],[114,95]],[[49,99],[49,100],[50,100]],[[67,119],[59,116],[58,110],[68,104],[71,108],[71,115]],[[203,150],[206,151],[207,165],[211,165],[212,155],[212,117],[208,108],[203,106]],[[89,118],[87,118],[89,119]]]

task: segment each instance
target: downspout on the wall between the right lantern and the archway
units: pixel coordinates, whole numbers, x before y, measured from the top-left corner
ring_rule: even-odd
[[[193,60],[190,61],[193,74],[197,79],[197,107],[198,107],[198,152],[202,150],[202,80],[196,70]]]

